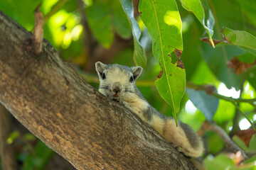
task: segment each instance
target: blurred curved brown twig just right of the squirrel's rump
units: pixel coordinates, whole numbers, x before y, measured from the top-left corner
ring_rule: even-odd
[[[228,134],[220,128],[216,123],[208,123],[205,121],[201,127],[201,129],[198,131],[198,135],[203,135],[204,132],[212,130],[213,132],[216,132],[225,142],[225,146],[230,149],[231,152],[236,153],[236,152],[241,152],[242,159],[245,161],[247,159],[247,155],[245,152],[236,145],[233,140],[230,139]]]

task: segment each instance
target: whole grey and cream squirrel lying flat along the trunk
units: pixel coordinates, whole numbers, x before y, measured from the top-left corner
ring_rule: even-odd
[[[127,67],[119,64],[95,63],[100,79],[99,91],[114,101],[119,101],[132,112],[151,125],[167,142],[171,142],[178,152],[186,157],[198,158],[203,153],[203,142],[192,128],[178,120],[176,126],[172,117],[156,111],[135,85],[142,73],[142,67]]]

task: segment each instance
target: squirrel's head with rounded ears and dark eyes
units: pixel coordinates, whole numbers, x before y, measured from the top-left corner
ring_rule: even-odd
[[[119,64],[95,63],[100,79],[100,93],[117,101],[125,101],[135,94],[135,81],[142,67],[127,67]]]

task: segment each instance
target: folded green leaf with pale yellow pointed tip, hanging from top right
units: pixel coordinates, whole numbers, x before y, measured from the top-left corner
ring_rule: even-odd
[[[203,25],[203,28],[205,28],[206,32],[209,35],[209,40],[211,45],[214,47],[213,43],[213,26],[215,23],[215,20],[213,18],[213,13],[210,11],[210,8],[208,8],[208,18],[206,18],[205,11],[203,9],[203,6],[201,4],[200,0],[180,0],[183,8],[186,8],[188,11],[192,11],[193,14],[198,18],[198,21]]]

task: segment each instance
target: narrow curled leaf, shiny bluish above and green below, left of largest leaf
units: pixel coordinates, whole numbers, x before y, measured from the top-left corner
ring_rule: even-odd
[[[132,27],[132,35],[134,37],[134,62],[136,65],[146,67],[146,52],[139,43],[142,31],[133,15],[132,0],[120,0],[124,12],[127,14],[130,26]]]

